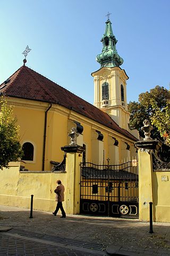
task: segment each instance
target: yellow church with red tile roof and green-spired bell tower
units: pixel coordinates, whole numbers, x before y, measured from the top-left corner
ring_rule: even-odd
[[[129,129],[126,99],[129,77],[120,67],[123,59],[109,19],[101,42],[100,68],[91,74],[94,105],[27,67],[25,59],[0,85],[0,94],[14,106],[20,125],[22,170],[50,171],[54,163],[62,162],[61,147],[70,144],[73,127],[83,147],[82,162],[104,164],[109,158],[111,164],[118,164],[137,158],[138,133]]]

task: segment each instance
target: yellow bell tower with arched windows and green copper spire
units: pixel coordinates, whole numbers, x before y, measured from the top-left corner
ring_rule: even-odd
[[[106,21],[103,37],[103,50],[97,55],[100,69],[92,73],[95,84],[94,105],[105,111],[122,128],[128,129],[129,116],[126,99],[126,80],[128,76],[120,66],[123,59],[116,50],[116,37],[113,34],[112,23]]]

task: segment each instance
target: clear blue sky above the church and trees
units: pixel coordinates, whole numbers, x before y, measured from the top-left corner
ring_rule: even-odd
[[[0,0],[0,83],[23,65],[29,45],[28,67],[93,103],[108,11],[130,77],[128,102],[156,85],[169,89],[169,0]]]

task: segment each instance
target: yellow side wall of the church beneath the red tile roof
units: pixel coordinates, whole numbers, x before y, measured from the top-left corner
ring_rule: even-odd
[[[44,145],[44,124],[45,111],[49,108],[49,103],[35,102],[23,99],[8,99],[14,107],[14,114],[18,118],[20,125],[21,143],[29,141],[35,146],[35,159],[32,162],[24,161],[22,165],[29,171],[41,171],[43,166],[43,145]],[[63,160],[63,151],[61,147],[70,142],[68,132],[73,121],[80,122],[83,126],[82,143],[87,146],[86,159],[91,162],[103,164],[108,158],[108,135],[116,138],[119,141],[117,156],[119,159],[124,159],[121,151],[121,138],[129,141],[122,134],[119,134],[106,126],[99,124],[92,119],[75,113],[73,110],[66,109],[60,105],[52,104],[52,107],[47,113],[47,128],[46,128],[46,147],[45,147],[45,171],[50,171],[52,164],[50,161],[61,162]],[[103,141],[92,138],[92,131],[100,131],[104,135]],[[116,159],[117,162],[118,159]]]

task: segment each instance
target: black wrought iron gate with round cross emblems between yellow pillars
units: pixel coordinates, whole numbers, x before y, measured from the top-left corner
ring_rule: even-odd
[[[80,164],[80,213],[138,218],[138,166]]]

